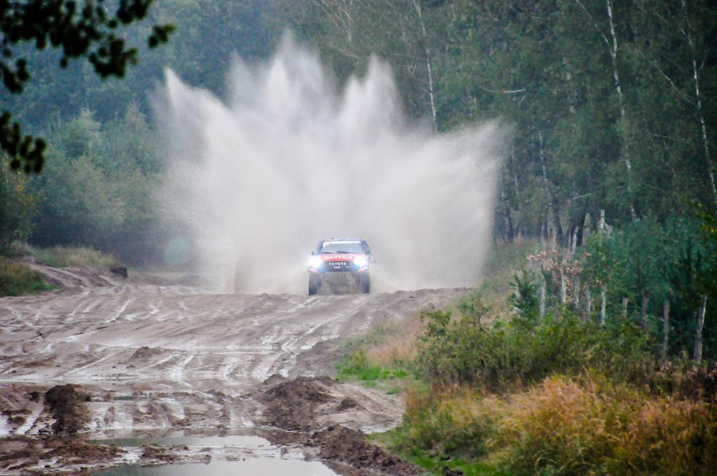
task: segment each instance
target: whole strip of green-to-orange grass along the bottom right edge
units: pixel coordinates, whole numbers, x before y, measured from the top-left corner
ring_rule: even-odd
[[[512,396],[414,388],[404,443],[522,474],[711,475],[717,410],[596,376],[553,376]]]

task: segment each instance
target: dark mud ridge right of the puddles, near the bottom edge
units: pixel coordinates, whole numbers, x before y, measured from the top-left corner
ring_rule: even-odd
[[[366,442],[365,434],[340,425],[315,432],[310,444],[318,447],[318,456],[322,460],[341,462],[359,470],[395,476],[418,475],[420,472],[419,468],[409,462]]]

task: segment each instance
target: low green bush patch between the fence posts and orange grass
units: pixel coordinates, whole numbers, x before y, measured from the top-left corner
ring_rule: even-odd
[[[576,376],[595,369],[615,381],[647,381],[652,361],[637,325],[615,319],[600,326],[568,310],[516,315],[481,325],[475,315],[424,312],[419,373],[440,388],[470,386],[491,393],[526,388],[553,373]]]

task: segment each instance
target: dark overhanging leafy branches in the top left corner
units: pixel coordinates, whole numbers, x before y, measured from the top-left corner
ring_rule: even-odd
[[[128,65],[137,62],[137,48],[126,44],[118,29],[144,19],[153,0],[0,0],[0,78],[6,90],[22,94],[30,79],[27,59],[15,49],[34,43],[38,50],[48,46],[62,50],[60,67],[70,59],[85,57],[102,78],[124,77]],[[108,3],[116,6],[109,13]],[[174,25],[156,25],[148,37],[154,48],[166,43]],[[9,111],[0,115],[0,148],[13,169],[26,173],[42,171],[46,143],[24,135]]]

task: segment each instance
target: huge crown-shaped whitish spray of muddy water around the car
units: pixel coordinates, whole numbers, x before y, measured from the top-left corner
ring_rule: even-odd
[[[155,115],[170,158],[161,193],[204,270],[231,292],[305,293],[323,238],[363,237],[374,292],[475,285],[490,242],[495,125],[437,135],[407,124],[389,67],[339,93],[318,55],[285,39],[237,59],[229,99],[172,72]]]

